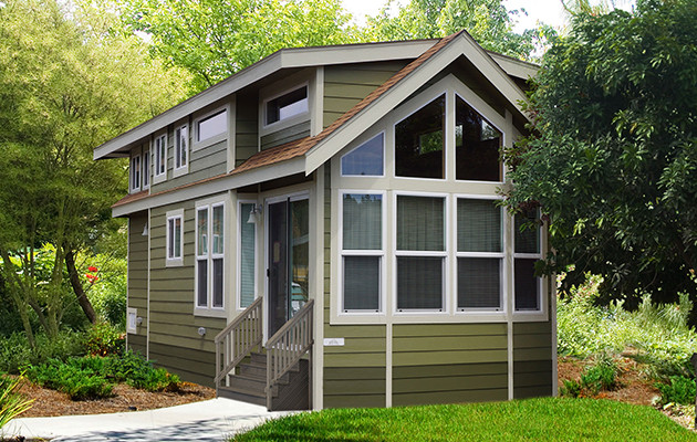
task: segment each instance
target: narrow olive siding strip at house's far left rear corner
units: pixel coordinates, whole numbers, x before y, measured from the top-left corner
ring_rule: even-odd
[[[143,229],[147,223],[147,212],[131,217],[128,221],[128,307],[137,308],[143,323],[136,334],[128,334],[128,347],[134,351],[146,352],[147,336],[147,236]]]

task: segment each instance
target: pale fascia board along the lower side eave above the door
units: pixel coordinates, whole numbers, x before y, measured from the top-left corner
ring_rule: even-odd
[[[125,217],[143,210],[173,204],[180,201],[199,199],[215,193],[220,193],[230,189],[251,186],[275,178],[288,177],[304,172],[304,159],[294,158],[278,165],[260,167],[249,171],[222,177],[210,182],[184,187],[170,192],[154,194],[152,197],[118,206],[112,209],[112,217]]]

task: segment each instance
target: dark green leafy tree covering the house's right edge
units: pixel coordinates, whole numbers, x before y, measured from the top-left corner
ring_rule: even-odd
[[[555,255],[541,269],[605,299],[697,294],[697,3],[578,14],[545,54],[533,135],[506,154],[511,209],[541,206]]]

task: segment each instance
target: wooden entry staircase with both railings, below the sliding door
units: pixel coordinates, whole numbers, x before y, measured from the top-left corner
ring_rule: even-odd
[[[218,396],[267,406],[270,411],[310,409],[313,305],[310,299],[266,348],[261,298],[220,332],[215,339]]]

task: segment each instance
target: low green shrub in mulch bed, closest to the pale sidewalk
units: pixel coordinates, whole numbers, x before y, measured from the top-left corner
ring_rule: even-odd
[[[27,377],[33,382],[66,393],[72,400],[108,398],[113,394],[113,385],[100,370],[96,357],[70,358],[63,362],[50,359],[29,367]]]

